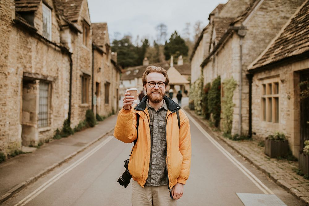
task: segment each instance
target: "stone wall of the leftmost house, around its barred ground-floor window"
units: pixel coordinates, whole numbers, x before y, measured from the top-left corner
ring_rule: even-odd
[[[20,149],[22,142],[26,146],[36,145],[53,137],[54,130],[62,127],[68,115],[70,60],[60,48],[49,44],[31,29],[13,22],[14,2],[1,2],[1,9],[0,55],[5,56],[0,57],[0,101],[1,113],[4,114],[0,117],[0,150],[11,153]],[[35,19],[42,19],[41,15],[40,4]],[[52,18],[55,18],[53,11]],[[36,24],[39,34],[41,27],[41,24]],[[57,28],[57,21],[52,21],[54,42],[59,42]],[[49,125],[44,128],[38,127],[37,116],[40,81],[50,85]],[[32,85],[31,82],[36,83]],[[27,100],[31,95],[27,94],[35,98],[32,103]]]

